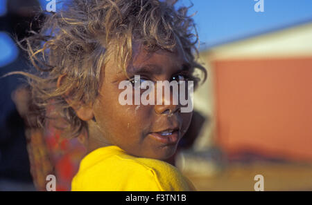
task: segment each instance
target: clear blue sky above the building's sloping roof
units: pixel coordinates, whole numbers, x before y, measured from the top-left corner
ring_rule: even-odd
[[[6,12],[5,2],[6,0],[0,0],[0,16]],[[47,2],[40,0],[44,8]],[[190,2],[181,1],[186,6],[189,6]],[[312,0],[263,0],[264,12],[254,11],[254,4],[257,3],[254,0],[192,2],[190,14],[197,12],[194,19],[198,26],[200,42],[205,43],[201,45],[202,49],[303,21],[312,21]],[[5,41],[0,41],[0,44],[3,42]],[[5,46],[8,45],[0,45],[0,53],[4,52],[2,48],[7,48]],[[14,52],[11,59],[14,59],[13,57],[16,57]]]

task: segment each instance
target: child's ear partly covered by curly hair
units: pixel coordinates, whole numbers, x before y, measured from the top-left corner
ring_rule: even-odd
[[[58,82],[56,84],[57,88],[60,87],[65,76],[66,74],[62,74],[60,75],[60,77],[58,77]],[[73,100],[69,96],[69,93],[70,93],[70,90],[66,92],[66,94],[63,95],[62,97],[65,99],[65,101],[67,101],[67,104],[69,104],[69,106],[71,106],[71,108],[75,110],[76,115],[83,121],[89,121],[90,119],[93,119],[94,113],[93,113],[92,104],[83,104],[83,102],[81,101],[73,102]]]

